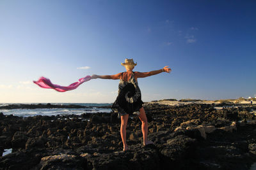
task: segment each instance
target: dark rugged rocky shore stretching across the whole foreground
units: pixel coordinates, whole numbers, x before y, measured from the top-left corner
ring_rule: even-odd
[[[255,105],[144,104],[148,138],[130,117],[122,152],[114,113],[15,117],[0,113],[0,169],[250,169],[256,162]]]

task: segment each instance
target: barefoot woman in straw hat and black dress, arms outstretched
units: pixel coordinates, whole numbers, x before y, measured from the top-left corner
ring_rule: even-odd
[[[126,143],[126,126],[129,115],[138,115],[141,120],[141,131],[143,133],[143,145],[153,144],[152,141],[148,141],[148,122],[145,110],[142,107],[143,101],[141,101],[141,92],[138,87],[138,78],[145,78],[162,72],[170,73],[172,69],[168,66],[163,67],[156,71],[150,71],[145,73],[133,72],[135,64],[133,59],[125,59],[124,63],[121,63],[125,67],[126,72],[118,73],[115,75],[99,76],[96,74],[92,75],[92,78],[103,78],[103,79],[120,79],[118,86],[118,96],[116,97],[115,103],[112,105],[113,111],[118,113],[118,117],[121,117],[120,134],[124,145],[124,151],[128,150]]]

